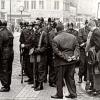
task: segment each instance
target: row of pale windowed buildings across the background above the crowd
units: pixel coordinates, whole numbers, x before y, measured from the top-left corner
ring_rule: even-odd
[[[34,20],[37,17],[53,17],[63,22],[81,21],[85,15],[91,16],[91,0],[0,0],[0,19],[12,23]],[[94,0],[92,0],[94,1]],[[84,6],[86,5],[86,7]],[[23,9],[22,9],[23,8]]]

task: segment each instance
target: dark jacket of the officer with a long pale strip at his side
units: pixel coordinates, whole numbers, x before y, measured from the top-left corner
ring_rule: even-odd
[[[38,44],[39,44],[39,39],[41,36],[41,32],[43,32],[42,36],[42,42],[41,42],[41,47],[39,50]],[[46,56],[47,56],[47,33],[43,31],[42,29],[38,30],[37,32],[34,33],[33,39],[32,39],[32,47],[35,49],[33,52],[34,55],[40,55],[41,56],[41,61],[40,63],[46,63]]]

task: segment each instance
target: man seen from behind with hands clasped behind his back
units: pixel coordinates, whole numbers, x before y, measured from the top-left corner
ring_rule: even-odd
[[[69,95],[66,98],[76,98],[76,85],[74,80],[75,63],[79,57],[79,45],[76,37],[63,31],[60,23],[57,25],[58,35],[53,39],[54,66],[56,67],[57,93],[51,98],[63,98],[63,79],[68,87]]]

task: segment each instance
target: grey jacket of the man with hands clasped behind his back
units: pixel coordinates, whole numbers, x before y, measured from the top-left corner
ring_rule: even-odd
[[[76,37],[72,34],[61,32],[53,40],[55,54],[55,66],[67,65],[68,57],[79,56],[79,45]]]

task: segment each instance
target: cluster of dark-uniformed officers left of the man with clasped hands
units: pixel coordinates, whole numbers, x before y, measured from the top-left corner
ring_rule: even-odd
[[[25,82],[34,83],[34,90],[42,90],[43,82],[47,82],[49,66],[49,85],[55,87],[52,40],[57,32],[56,22],[49,18],[46,24],[43,18],[37,18],[34,23],[20,24],[22,31],[19,41],[20,48],[24,49],[24,73],[29,78]]]

